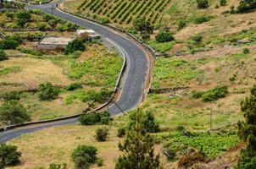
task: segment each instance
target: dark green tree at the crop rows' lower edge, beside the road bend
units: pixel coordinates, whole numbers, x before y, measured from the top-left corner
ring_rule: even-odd
[[[137,18],[133,22],[133,27],[136,31],[139,31],[143,40],[147,40],[150,34],[153,33],[153,26],[145,18]]]

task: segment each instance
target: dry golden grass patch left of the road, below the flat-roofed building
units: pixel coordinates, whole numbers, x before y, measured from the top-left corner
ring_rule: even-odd
[[[63,74],[63,69],[58,68],[49,60],[38,60],[31,57],[10,57],[0,63],[3,68],[19,66],[21,71],[14,74],[7,74],[1,77],[2,82],[17,83],[22,86],[11,87],[1,86],[0,91],[28,90],[35,89],[38,85],[50,82],[54,85],[69,85],[71,80]]]

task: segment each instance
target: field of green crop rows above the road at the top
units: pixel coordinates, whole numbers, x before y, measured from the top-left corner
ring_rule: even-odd
[[[84,0],[77,10],[122,25],[129,25],[137,17],[145,17],[155,25],[169,3],[170,0]]]

